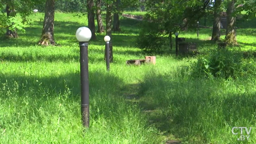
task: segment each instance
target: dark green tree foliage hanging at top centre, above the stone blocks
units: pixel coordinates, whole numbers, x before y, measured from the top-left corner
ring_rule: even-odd
[[[209,1],[200,0],[148,0],[147,14],[137,45],[141,49],[156,50],[163,44],[162,38],[167,38],[184,27],[194,27],[196,21],[204,15],[208,4]],[[151,40],[152,36],[155,39]]]

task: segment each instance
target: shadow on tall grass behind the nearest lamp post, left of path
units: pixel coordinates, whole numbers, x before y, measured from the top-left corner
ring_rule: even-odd
[[[106,107],[111,107],[115,111],[115,108],[120,105],[117,101],[121,100],[116,98],[116,95],[119,94],[119,87],[123,83],[122,79],[107,72],[89,72],[90,117],[92,119],[95,120],[98,116],[109,113],[109,109],[106,109]],[[29,99],[31,108],[34,107],[33,101],[54,101],[58,97],[63,101],[66,100],[63,103],[71,100],[80,105],[81,86],[79,72],[45,77],[0,73],[0,87],[3,86],[6,86],[8,90],[2,89],[1,100],[10,99],[9,93],[12,94],[13,98],[18,96],[19,98]],[[35,108],[37,107],[39,108],[40,106],[36,105]],[[97,112],[98,108],[100,112]],[[54,109],[52,110],[54,111]]]

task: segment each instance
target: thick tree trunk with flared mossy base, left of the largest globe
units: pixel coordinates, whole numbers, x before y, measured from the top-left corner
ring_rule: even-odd
[[[54,2],[55,0],[46,0],[44,12],[44,26],[39,44],[55,45],[53,29],[54,29]]]

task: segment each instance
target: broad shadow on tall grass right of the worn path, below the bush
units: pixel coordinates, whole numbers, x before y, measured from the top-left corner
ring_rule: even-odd
[[[251,113],[256,108],[256,94],[235,93],[225,83],[223,79],[149,74],[140,84],[134,101],[147,115],[148,123],[159,130],[192,143],[208,143],[216,140],[217,133],[224,132],[231,137],[226,124],[252,126],[255,123]],[[250,87],[243,82],[235,84],[234,87],[239,84]]]

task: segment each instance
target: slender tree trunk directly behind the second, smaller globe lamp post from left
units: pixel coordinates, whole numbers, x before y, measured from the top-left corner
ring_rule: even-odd
[[[113,46],[112,46],[112,4],[107,4],[106,28],[107,36],[110,37],[109,41],[109,61],[113,62]],[[106,60],[106,53],[105,53]]]

